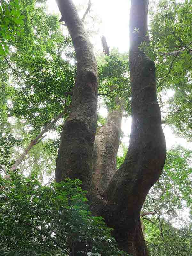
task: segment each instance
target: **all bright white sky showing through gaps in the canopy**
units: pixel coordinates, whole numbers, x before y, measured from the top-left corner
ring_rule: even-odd
[[[180,0],[183,1],[183,0]],[[88,6],[88,0],[73,0],[76,5],[83,4],[84,10],[79,13],[80,17],[83,17],[83,14]],[[157,2],[157,0],[156,0]],[[49,13],[59,13],[59,9],[54,0],[47,1]],[[102,51],[101,46],[101,36],[105,36],[110,46],[110,49],[113,47],[118,48],[119,52],[128,52],[129,50],[129,0],[118,0],[118,4],[116,1],[111,0],[92,0],[91,7],[91,16],[97,16],[98,20],[101,20],[101,23],[98,25],[99,33],[98,36],[94,36],[93,44],[96,48]],[[103,116],[107,116],[107,110],[105,108],[100,109],[100,114]],[[122,131],[126,135],[123,138],[123,142],[128,146],[129,138],[127,135],[130,134],[131,131],[131,118],[123,118],[122,121]],[[192,143],[188,143],[183,138],[177,138],[173,133],[171,128],[166,125],[164,127],[164,134],[166,138],[167,148],[171,148],[172,146],[182,145],[186,148],[192,150]]]

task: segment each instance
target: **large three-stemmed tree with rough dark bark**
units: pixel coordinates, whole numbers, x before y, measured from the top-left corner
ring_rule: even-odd
[[[132,128],[124,163],[116,170],[122,108],[108,114],[96,134],[97,62],[84,25],[71,0],[57,0],[61,20],[76,51],[77,70],[72,105],[63,125],[56,164],[56,180],[78,178],[88,190],[92,212],[114,228],[120,249],[148,255],[140,224],[140,210],[158,180],[166,146],[156,97],[155,64],[140,50],[148,43],[148,0],[132,0],[130,10],[130,77]],[[117,99],[118,101],[118,99]],[[81,243],[75,255],[80,255]]]

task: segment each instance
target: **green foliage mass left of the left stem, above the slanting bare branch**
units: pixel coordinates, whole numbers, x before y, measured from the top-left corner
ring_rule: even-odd
[[[7,96],[13,104],[11,115],[25,118],[39,132],[71,103],[66,92],[71,93],[74,85],[76,68],[69,58],[75,62],[75,54],[71,39],[60,30],[58,17],[48,15],[44,3],[36,7],[34,0],[21,0],[20,6],[25,15],[23,35],[8,40],[11,51],[6,61],[2,58],[7,69],[2,73],[11,78],[13,93]]]

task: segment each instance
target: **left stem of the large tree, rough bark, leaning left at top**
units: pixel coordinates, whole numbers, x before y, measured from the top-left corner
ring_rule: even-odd
[[[97,62],[92,44],[71,0],[57,0],[61,20],[69,30],[77,57],[76,84],[69,118],[61,134],[56,180],[78,178],[83,188],[92,183],[92,151],[97,122]]]

